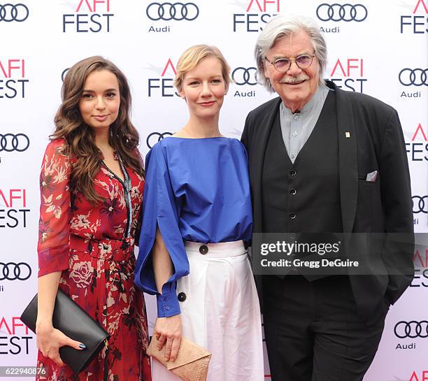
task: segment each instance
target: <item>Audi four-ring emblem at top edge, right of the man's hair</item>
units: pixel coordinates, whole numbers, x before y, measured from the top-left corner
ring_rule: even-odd
[[[367,18],[367,8],[362,4],[322,3],[317,8],[317,17],[321,21],[362,22]]]

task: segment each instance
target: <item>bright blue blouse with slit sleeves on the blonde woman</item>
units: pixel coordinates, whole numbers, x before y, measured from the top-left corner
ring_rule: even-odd
[[[143,223],[136,285],[157,294],[150,254],[156,227],[173,262],[173,275],[157,294],[157,313],[180,313],[176,281],[189,274],[184,241],[250,240],[252,211],[248,157],[237,139],[165,138],[145,158]]]

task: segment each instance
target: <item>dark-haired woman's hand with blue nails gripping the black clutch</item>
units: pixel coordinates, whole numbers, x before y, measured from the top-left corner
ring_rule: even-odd
[[[58,366],[64,366],[64,362],[59,356],[59,348],[69,345],[75,350],[84,350],[85,344],[76,340],[71,340],[64,333],[55,329],[50,323],[37,322],[36,324],[36,345],[44,357],[49,357]]]

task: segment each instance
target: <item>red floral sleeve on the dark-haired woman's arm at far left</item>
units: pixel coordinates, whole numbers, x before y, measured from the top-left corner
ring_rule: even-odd
[[[51,141],[40,174],[40,220],[38,222],[38,276],[69,268],[69,222],[71,164],[64,139]]]

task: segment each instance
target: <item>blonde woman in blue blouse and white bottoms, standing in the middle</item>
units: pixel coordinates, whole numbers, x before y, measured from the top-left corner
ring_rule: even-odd
[[[177,65],[190,117],[146,158],[136,285],[157,295],[155,335],[176,359],[181,336],[213,354],[208,381],[263,381],[259,302],[244,241],[252,230],[248,159],[220,134],[229,66],[196,45]],[[153,360],[154,381],[179,378]]]

